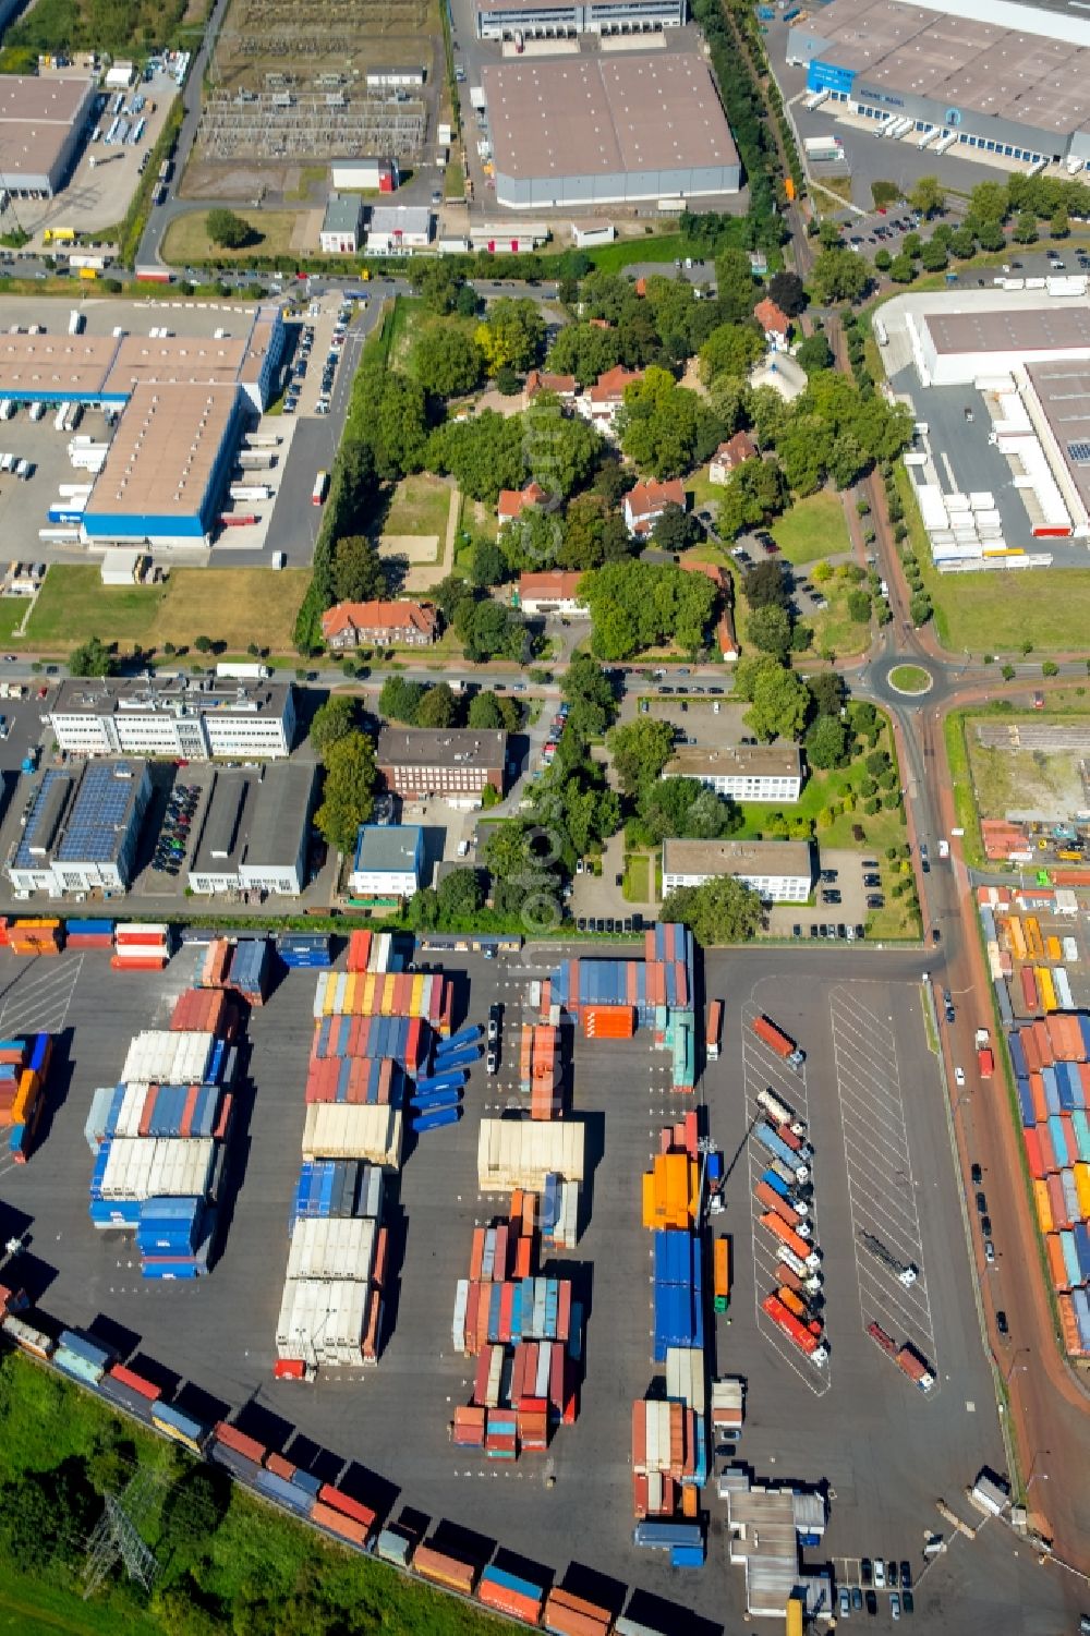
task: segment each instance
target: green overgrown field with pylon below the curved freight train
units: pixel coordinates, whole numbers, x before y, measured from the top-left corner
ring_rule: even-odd
[[[101,1513],[101,1495],[121,1490],[137,1467],[151,1479],[139,1525],[159,1566],[151,1603],[116,1575],[83,1602],[85,1531]],[[205,1495],[196,1508],[180,1492],[191,1495],[195,1479]],[[0,1633],[499,1636],[502,1628],[453,1597],[321,1539],[249,1499],[224,1472],[201,1467],[18,1355],[0,1360],[0,1484],[10,1502],[0,1507]],[[43,1512],[39,1495],[49,1507],[54,1489],[54,1510]],[[57,1505],[69,1520],[62,1494],[80,1507],[72,1533],[56,1521]],[[39,1507],[38,1531],[28,1521],[33,1507]]]

